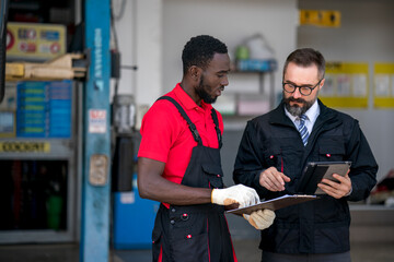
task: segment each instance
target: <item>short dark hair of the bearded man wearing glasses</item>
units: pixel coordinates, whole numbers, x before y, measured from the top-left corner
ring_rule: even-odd
[[[286,59],[283,67],[283,78],[287,70],[287,67],[290,62],[296,63],[297,66],[309,67],[315,64],[317,67],[317,76],[320,79],[324,78],[325,73],[325,59],[323,55],[313,49],[313,48],[300,48],[292,51]]]

